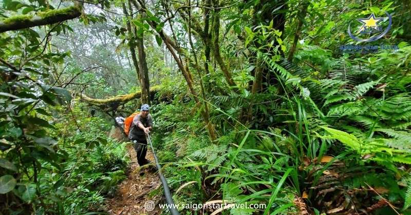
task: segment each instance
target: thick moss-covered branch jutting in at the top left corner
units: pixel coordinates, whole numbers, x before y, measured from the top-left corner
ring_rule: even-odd
[[[0,20],[0,33],[34,26],[49,25],[71,20],[81,15],[83,3],[75,2],[74,6],[37,12],[36,14],[14,15]]]

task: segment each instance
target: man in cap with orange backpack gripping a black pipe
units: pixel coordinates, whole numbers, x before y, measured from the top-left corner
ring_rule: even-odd
[[[140,113],[134,116],[128,133],[128,138],[134,143],[140,167],[150,164],[150,160],[145,159],[147,153],[147,139],[145,135],[153,127],[153,117],[148,113],[149,111],[150,106],[148,104],[141,105]]]

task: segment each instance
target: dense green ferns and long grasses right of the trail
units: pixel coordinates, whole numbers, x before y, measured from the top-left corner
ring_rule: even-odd
[[[316,49],[305,46],[296,58],[311,60],[308,53]],[[408,49],[391,57],[401,59]],[[329,56],[327,76],[298,62],[267,60],[282,89],[209,98],[221,132],[215,142],[203,127],[201,107],[184,101],[184,94],[154,105],[154,142],[170,186],[179,191],[175,202],[267,206],[227,209],[231,214],[407,213],[411,95],[403,80],[409,75],[380,73],[373,69],[380,64],[404,66],[380,59],[362,65],[371,71],[365,72],[356,66],[359,59]],[[278,96],[284,91],[288,95]],[[245,110],[251,113],[242,124],[236,119]]]

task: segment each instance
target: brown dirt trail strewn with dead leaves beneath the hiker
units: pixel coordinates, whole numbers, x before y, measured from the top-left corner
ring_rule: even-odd
[[[119,128],[116,128],[111,137],[125,141],[124,135]],[[137,163],[136,151],[132,144],[127,145],[127,151],[131,160],[127,170],[127,178],[118,185],[115,196],[106,201],[107,212],[116,215],[161,214],[161,210],[158,207],[155,207],[152,211],[147,211],[144,208],[146,201],[153,201],[157,205],[162,199],[162,193],[149,196],[151,191],[161,187],[158,174],[150,171],[148,168],[142,167],[143,169],[141,169]],[[147,150],[146,158],[155,163],[151,150]],[[140,171],[144,171],[144,175],[140,176]]]

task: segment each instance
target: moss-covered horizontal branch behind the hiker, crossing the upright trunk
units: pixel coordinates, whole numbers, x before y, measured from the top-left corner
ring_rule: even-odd
[[[161,86],[152,86],[150,88],[150,93],[152,95],[156,94],[159,92],[161,89]],[[111,103],[126,103],[128,101],[131,101],[133,99],[138,99],[141,97],[141,91],[137,91],[136,93],[131,93],[131,94],[125,94],[125,95],[119,95],[115,97],[110,97],[107,99],[94,99],[87,97],[86,95],[82,94],[81,95],[81,101],[85,101],[87,103],[95,104],[95,105],[107,105]]]

